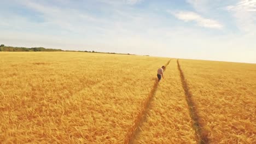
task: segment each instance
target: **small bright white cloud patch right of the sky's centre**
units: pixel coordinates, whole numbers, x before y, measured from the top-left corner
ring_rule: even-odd
[[[169,11],[170,13],[170,11]],[[207,27],[207,28],[216,28],[216,29],[222,29],[223,25],[219,23],[216,20],[212,19],[206,19],[202,17],[201,15],[194,13],[192,11],[179,11],[177,13],[173,13],[175,17],[179,20],[183,20],[185,22],[189,21],[195,21],[197,25],[201,27]]]

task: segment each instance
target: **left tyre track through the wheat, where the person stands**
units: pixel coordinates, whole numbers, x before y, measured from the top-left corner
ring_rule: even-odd
[[[170,63],[171,59],[165,64],[165,68]],[[138,131],[139,125],[141,125],[144,121],[144,117],[146,116],[146,113],[148,111],[149,105],[152,101],[152,98],[155,95],[156,90],[158,89],[158,79],[155,80],[154,86],[151,89],[150,93],[148,94],[148,97],[143,101],[143,105],[141,109],[138,112],[137,117],[135,118],[135,121],[133,122],[132,127],[129,129],[126,138],[125,138],[125,144],[131,143],[135,137],[135,134]]]

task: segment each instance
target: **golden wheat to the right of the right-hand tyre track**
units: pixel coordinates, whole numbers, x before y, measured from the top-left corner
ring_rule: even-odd
[[[181,60],[211,143],[256,143],[256,65]]]

